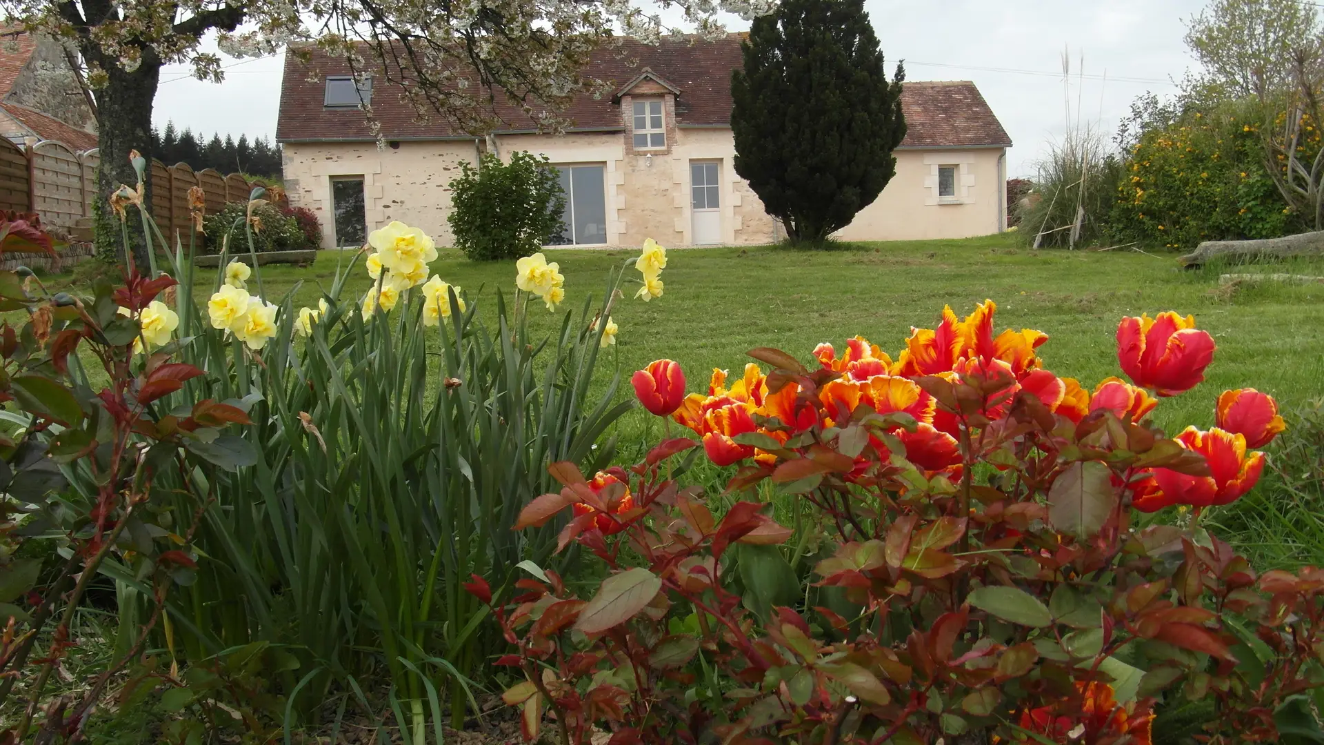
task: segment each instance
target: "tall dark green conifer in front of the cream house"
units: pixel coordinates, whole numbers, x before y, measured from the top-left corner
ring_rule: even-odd
[[[863,0],[782,0],[755,19],[731,81],[736,174],[793,243],[821,245],[896,172],[902,81]]]

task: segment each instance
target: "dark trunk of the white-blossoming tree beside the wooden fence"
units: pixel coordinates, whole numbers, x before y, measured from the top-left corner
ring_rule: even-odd
[[[124,72],[117,60],[99,58],[101,54],[94,49],[82,49],[82,53],[85,58],[99,62],[109,78],[106,87],[98,95],[97,106],[98,144],[101,147],[101,163],[97,167],[97,200],[93,211],[97,251],[103,256],[114,253],[120,261],[124,261],[120,220],[110,208],[109,200],[120,184],[132,188],[138,183],[138,174],[128,160],[128,151],[136,150],[147,159],[147,170],[143,174],[147,191],[143,201],[146,205],[151,205],[152,101],[156,98],[156,86],[160,82],[160,57],[151,49],[146,49],[142,64],[130,73]],[[126,212],[126,224],[134,261],[140,270],[146,272],[148,265],[147,240],[135,207],[130,207]]]

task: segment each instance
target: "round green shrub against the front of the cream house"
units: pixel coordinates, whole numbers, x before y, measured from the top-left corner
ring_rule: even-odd
[[[512,152],[502,163],[483,155],[477,168],[461,166],[450,190],[455,248],[475,261],[528,256],[561,228],[565,194],[545,156]]]

